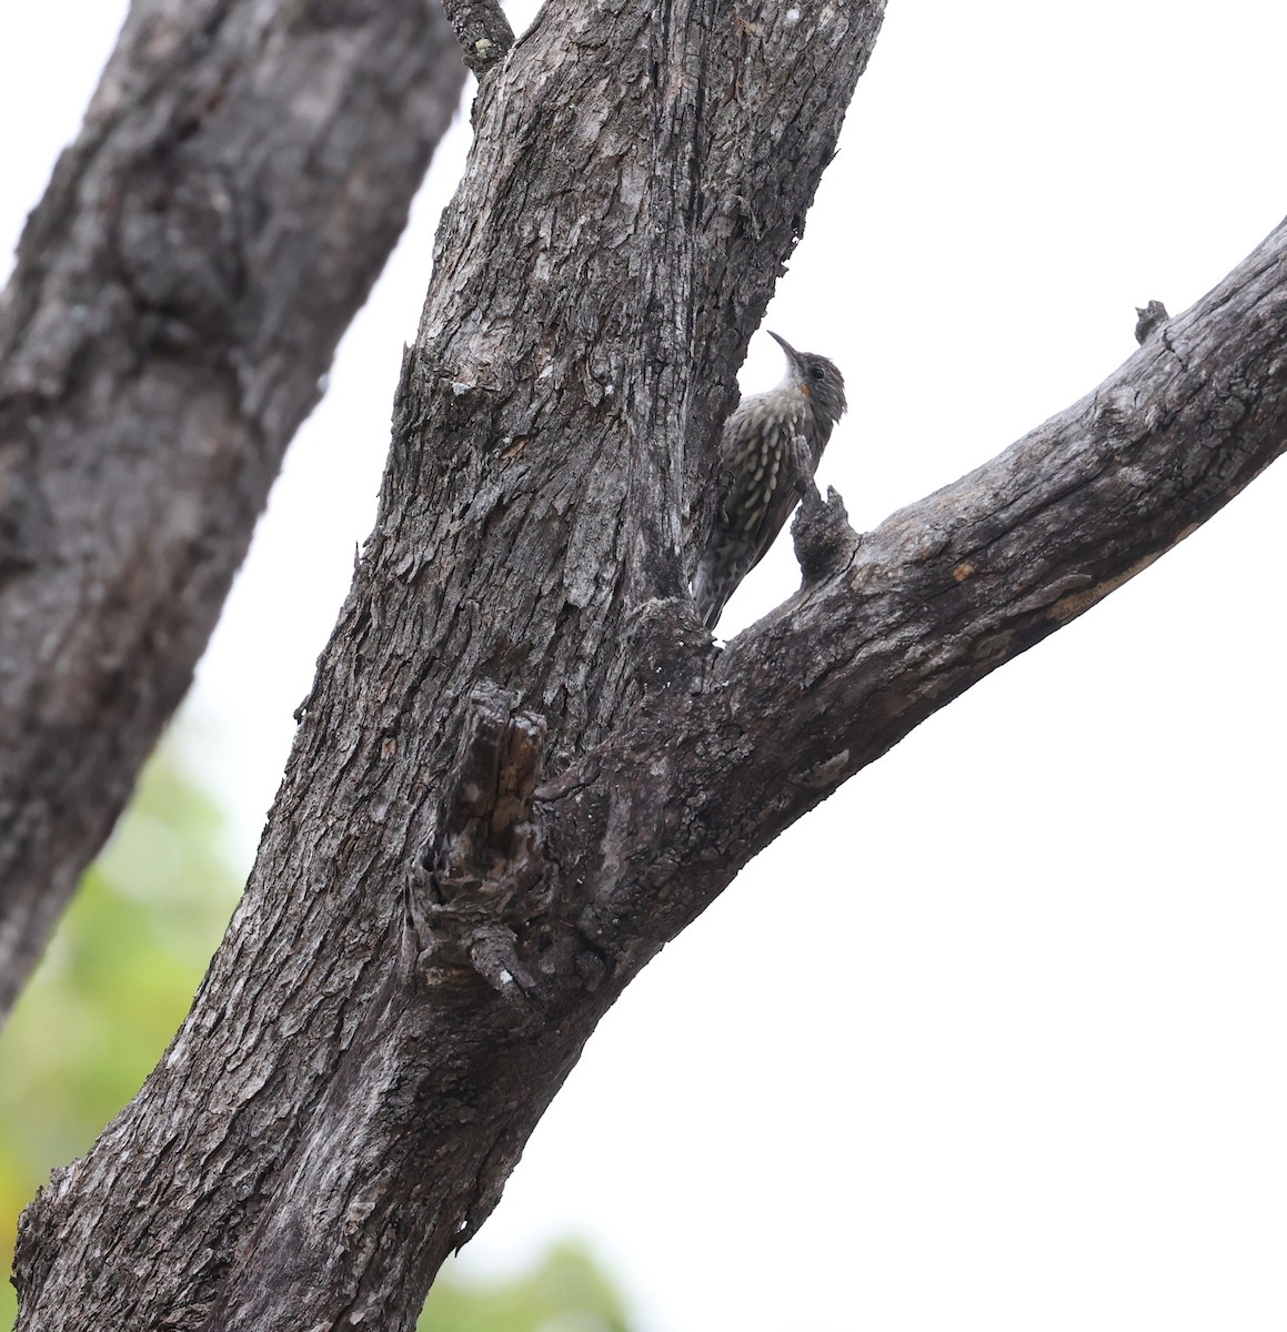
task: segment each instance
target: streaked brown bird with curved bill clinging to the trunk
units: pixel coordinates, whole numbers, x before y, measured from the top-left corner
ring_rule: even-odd
[[[714,525],[691,586],[707,629],[813,484],[831,428],[849,406],[833,361],[797,352],[777,333],[769,337],[786,353],[786,376],[775,389],[743,398],[719,438]]]

